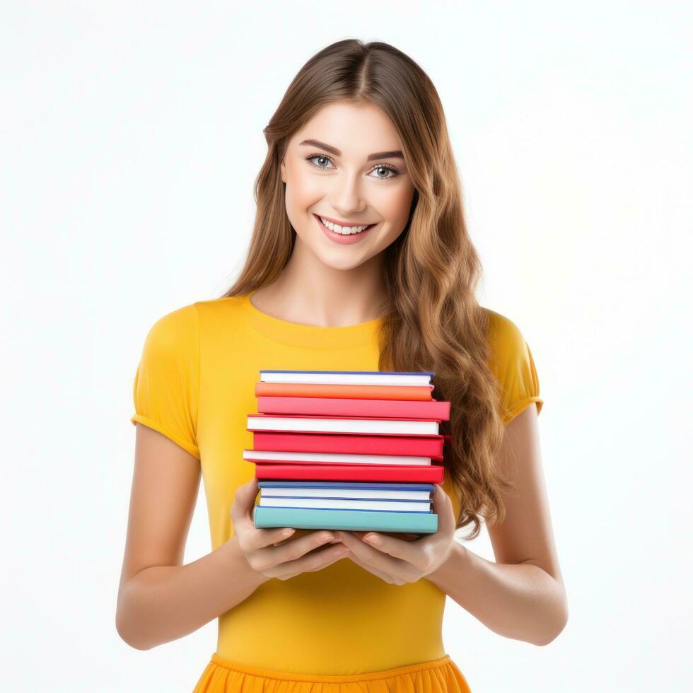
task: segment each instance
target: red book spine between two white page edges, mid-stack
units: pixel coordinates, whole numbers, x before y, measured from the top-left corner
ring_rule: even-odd
[[[445,436],[363,436],[353,433],[283,433],[253,431],[254,450],[299,453],[358,453],[363,455],[417,455],[443,459]]]

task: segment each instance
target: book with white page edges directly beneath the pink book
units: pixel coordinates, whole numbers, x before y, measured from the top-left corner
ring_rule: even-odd
[[[337,419],[332,417],[272,417],[248,414],[248,431],[305,431],[308,433],[398,433],[438,435],[440,421],[432,419]]]

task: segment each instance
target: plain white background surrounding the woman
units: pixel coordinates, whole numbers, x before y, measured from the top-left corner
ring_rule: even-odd
[[[693,686],[688,553],[693,13],[674,2],[2,2],[2,688],[189,691],[216,620],[115,629],[132,383],[165,313],[221,296],[262,128],[335,40],[443,101],[479,301],[516,322],[570,617],[546,647],[448,599],[474,693]],[[211,550],[200,490],[186,561]],[[487,534],[468,544],[493,558]],[[413,624],[415,627],[415,624]]]

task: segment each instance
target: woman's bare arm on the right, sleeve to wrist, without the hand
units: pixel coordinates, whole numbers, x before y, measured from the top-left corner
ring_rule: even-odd
[[[499,463],[510,473],[514,491],[503,498],[506,518],[488,528],[497,562],[455,542],[448,561],[427,579],[496,633],[547,645],[566,625],[568,602],[549,516],[535,406],[506,426]]]

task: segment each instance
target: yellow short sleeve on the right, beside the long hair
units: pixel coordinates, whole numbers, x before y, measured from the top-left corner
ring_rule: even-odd
[[[508,424],[532,402],[537,415],[544,406],[532,351],[518,326],[500,313],[489,310],[491,371],[500,386],[503,424]]]

